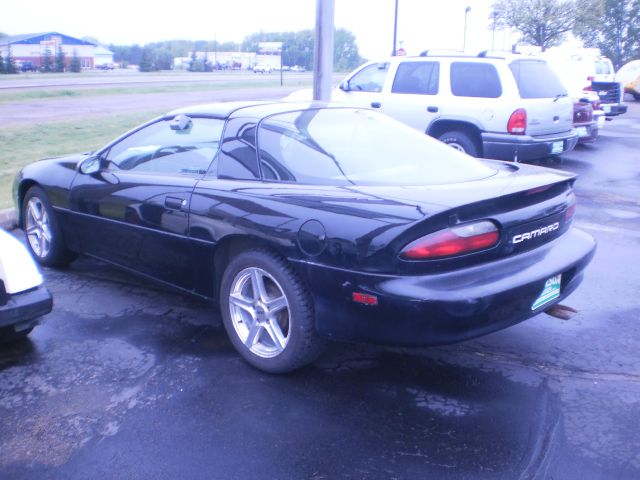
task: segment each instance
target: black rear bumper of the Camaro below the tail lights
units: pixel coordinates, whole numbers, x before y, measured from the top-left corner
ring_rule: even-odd
[[[580,284],[595,253],[588,234],[571,229],[553,242],[454,272],[384,276],[297,263],[312,288],[319,334],[336,340],[424,346],[459,342],[537,315]],[[532,310],[551,277],[560,296]],[[352,301],[361,292],[377,305]]]

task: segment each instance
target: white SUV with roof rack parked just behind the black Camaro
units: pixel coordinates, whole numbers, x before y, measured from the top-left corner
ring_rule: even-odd
[[[349,74],[332,100],[379,109],[476,157],[532,160],[577,142],[573,102],[541,59],[392,57]]]

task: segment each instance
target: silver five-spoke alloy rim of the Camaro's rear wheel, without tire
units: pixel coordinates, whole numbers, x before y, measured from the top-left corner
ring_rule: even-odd
[[[280,284],[266,271],[249,267],[234,277],[229,292],[231,321],[238,337],[255,355],[281,354],[290,337],[290,309]]]

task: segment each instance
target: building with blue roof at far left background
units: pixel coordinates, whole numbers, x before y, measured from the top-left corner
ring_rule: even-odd
[[[6,58],[9,49],[11,49],[11,56],[17,63],[32,62],[36,68],[40,68],[44,64],[47,50],[53,59],[58,48],[64,52],[67,67],[75,54],[78,56],[82,68],[93,68],[97,47],[95,43],[58,32],[11,35],[0,39],[0,54],[3,57]]]

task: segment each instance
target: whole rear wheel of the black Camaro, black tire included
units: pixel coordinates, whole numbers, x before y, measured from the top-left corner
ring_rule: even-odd
[[[311,295],[286,260],[269,250],[247,250],[229,262],[220,306],[234,347],[260,370],[290,372],[322,351]]]

